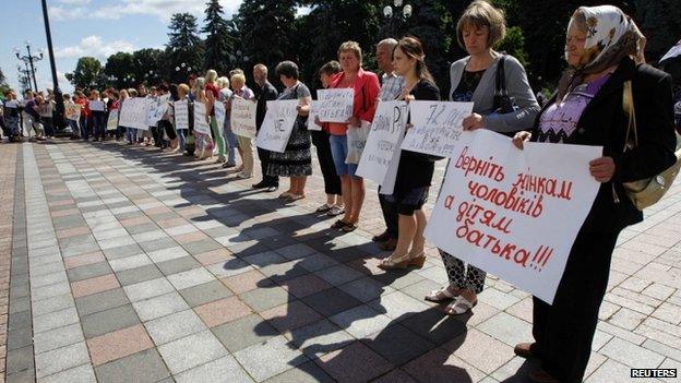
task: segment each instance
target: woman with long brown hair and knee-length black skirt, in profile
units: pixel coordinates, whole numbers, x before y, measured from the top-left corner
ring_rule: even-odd
[[[393,67],[395,73],[405,79],[405,86],[397,99],[407,103],[413,99],[440,99],[440,89],[428,71],[425,57],[418,39],[405,37],[397,43],[393,50]],[[434,169],[432,156],[402,151],[394,192],[385,196],[398,212],[397,246],[389,258],[379,263],[379,267],[390,270],[423,266],[426,214],[422,207],[428,199]]]

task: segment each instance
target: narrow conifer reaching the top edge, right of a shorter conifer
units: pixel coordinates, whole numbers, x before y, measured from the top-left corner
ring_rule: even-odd
[[[211,0],[206,5],[205,26],[201,29],[206,34],[205,68],[225,73],[229,65],[228,53],[234,48],[235,31],[232,24],[224,19],[218,0]]]

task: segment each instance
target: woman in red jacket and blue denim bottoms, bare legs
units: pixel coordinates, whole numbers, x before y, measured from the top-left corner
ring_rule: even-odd
[[[357,164],[346,164],[348,156],[347,131],[360,128],[362,121],[368,123],[373,121],[380,85],[375,73],[367,72],[361,68],[362,52],[359,44],[355,41],[343,43],[338,48],[338,61],[343,72],[334,76],[330,88],[353,88],[355,98],[353,117],[346,123],[332,122],[328,124],[331,153],[336,166],[336,173],[340,177],[340,190],[345,203],[343,218],[336,220],[332,228],[349,232],[357,228],[359,222],[359,213],[365,202],[365,180],[355,176]]]

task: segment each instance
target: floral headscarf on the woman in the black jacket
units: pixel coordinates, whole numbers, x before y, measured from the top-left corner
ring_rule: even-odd
[[[585,51],[580,64],[563,73],[558,87],[559,101],[585,74],[601,72],[625,57],[640,56],[645,44],[645,37],[633,20],[617,7],[580,7],[570,19],[568,29],[580,19],[586,24]]]

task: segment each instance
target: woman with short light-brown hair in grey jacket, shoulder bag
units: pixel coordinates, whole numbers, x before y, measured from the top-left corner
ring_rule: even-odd
[[[487,1],[474,1],[456,25],[458,45],[468,57],[452,64],[453,101],[474,101],[473,115],[464,119],[464,130],[489,129],[500,133],[529,129],[539,111],[539,104],[527,82],[523,65],[513,57],[495,52],[492,47],[504,36],[505,21],[501,11]],[[514,110],[499,110],[494,101],[497,74],[503,65],[505,88],[515,100]],[[477,303],[485,287],[486,273],[440,251],[450,279],[449,286],[432,291],[427,300],[452,300],[445,311],[451,315],[466,313]]]

